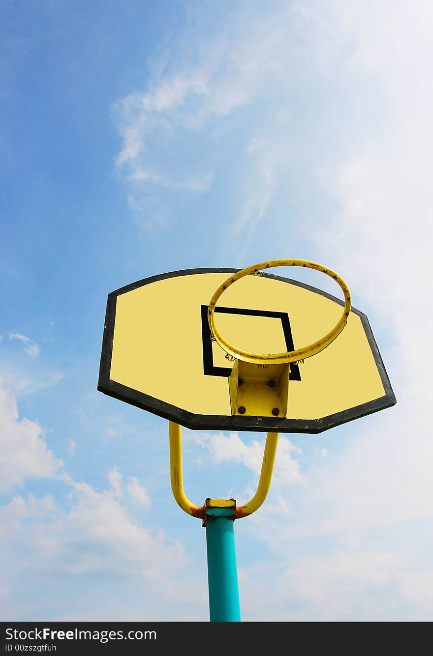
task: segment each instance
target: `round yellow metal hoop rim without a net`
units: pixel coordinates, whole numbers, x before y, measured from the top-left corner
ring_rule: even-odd
[[[344,310],[343,314],[340,318],[340,321],[332,328],[331,331],[325,337],[319,339],[317,342],[313,342],[313,344],[309,344],[309,346],[304,346],[304,348],[298,348],[296,351],[288,351],[286,353],[272,353],[272,354],[265,354],[265,353],[248,353],[246,351],[241,351],[239,348],[236,348],[227,340],[225,340],[221,333],[216,328],[215,325],[215,316],[214,316],[214,310],[215,306],[217,304],[217,300],[219,297],[222,295],[222,293],[227,289],[227,287],[230,287],[230,285],[233,285],[237,280],[244,276],[248,276],[250,274],[255,274],[258,271],[262,271],[263,269],[270,269],[273,267],[277,266],[305,266],[308,267],[309,269],[315,269],[316,271],[320,271],[323,274],[326,274],[327,276],[331,277],[333,280],[340,285],[343,293],[344,293]],[[331,269],[327,268],[326,266],[323,266],[323,264],[317,264],[317,262],[309,262],[308,260],[269,260],[269,262],[261,262],[260,264],[253,264],[253,266],[248,266],[246,269],[242,269],[241,271],[237,272],[237,274],[233,274],[227,280],[223,282],[223,284],[218,287],[217,291],[214,293],[214,296],[210,300],[209,308],[208,308],[208,321],[210,325],[210,329],[216,338],[219,346],[223,348],[228,354],[231,356],[234,356],[235,358],[239,360],[243,360],[244,362],[251,362],[253,364],[263,364],[263,363],[271,363],[271,364],[283,364],[285,362],[294,362],[296,360],[301,360],[305,358],[310,358],[311,356],[314,356],[317,353],[320,353],[323,351],[324,348],[329,346],[329,344],[336,338],[338,335],[340,335],[342,329],[346,325],[348,321],[348,316],[350,312],[350,308],[352,307],[352,302],[350,300],[350,292],[348,289],[348,286],[344,282],[344,280],[338,276],[334,271]]]

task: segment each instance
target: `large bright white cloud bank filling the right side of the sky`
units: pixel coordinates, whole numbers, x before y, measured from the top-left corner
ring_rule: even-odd
[[[322,138],[333,125],[332,112],[338,117],[340,100],[351,97],[353,105],[338,126],[333,147],[321,152],[316,144],[315,158],[309,161],[311,188],[318,176],[324,204],[331,201],[332,209],[322,213],[315,207],[315,218],[303,217],[297,225],[289,222],[286,243],[302,237],[319,261],[348,281],[355,306],[375,318],[373,331],[380,334],[398,405],[348,424],[344,442],[337,438],[338,449],[331,448],[332,434],[323,434],[327,448],[317,453],[326,457],[305,472],[292,517],[287,513],[281,522],[263,512],[254,535],[282,559],[296,540],[308,539],[319,551],[288,557],[278,597],[284,603],[284,588],[294,589],[290,607],[302,609],[304,619],[393,617],[397,611],[416,619],[431,615],[433,575],[431,553],[422,565],[417,558],[419,545],[432,539],[425,526],[432,517],[433,497],[428,466],[433,457],[428,415],[433,362],[426,348],[433,318],[433,9],[431,3],[419,3],[415,9],[388,2],[309,7],[308,47],[315,74],[330,88],[338,80],[332,110],[323,113],[317,106]],[[289,137],[280,136],[279,146],[288,150]],[[272,140],[262,136],[254,143],[267,143],[272,152]],[[311,140],[300,151],[300,161],[309,158],[309,149]],[[259,207],[252,196],[246,196],[246,206],[248,202]],[[245,216],[252,216],[252,209]],[[241,216],[239,234],[251,225]],[[283,223],[279,229],[284,230]],[[268,504],[274,494],[271,487]],[[331,536],[346,531],[380,531],[382,541],[380,546],[372,544],[373,538],[329,546]],[[412,531],[415,549],[405,541]],[[392,590],[392,603],[387,590]]]

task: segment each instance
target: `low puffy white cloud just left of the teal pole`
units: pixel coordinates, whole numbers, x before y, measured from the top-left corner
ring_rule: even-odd
[[[98,492],[68,474],[62,480],[72,490],[66,511],[57,508],[49,496],[35,499],[32,495],[14,497],[1,510],[5,534],[11,538],[13,532],[18,544],[26,535],[31,569],[49,568],[70,575],[122,573],[162,581],[183,567],[181,544],[168,546],[163,531],[152,533],[135,522],[112,490]]]

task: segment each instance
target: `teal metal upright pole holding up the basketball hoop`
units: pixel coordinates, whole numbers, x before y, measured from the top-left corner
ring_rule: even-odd
[[[233,508],[206,508],[211,622],[240,622]]]

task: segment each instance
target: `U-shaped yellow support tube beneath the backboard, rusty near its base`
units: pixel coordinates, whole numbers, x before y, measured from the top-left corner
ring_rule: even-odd
[[[182,440],[181,440],[181,427],[179,424],[170,421],[170,478],[171,489],[175,501],[185,510],[189,515],[198,517],[200,519],[206,518],[206,506],[196,506],[189,501],[183,491],[183,476],[182,476]],[[256,494],[252,497],[251,501],[243,506],[237,506],[235,510],[235,518],[246,517],[247,515],[255,512],[262,505],[266,499],[266,495],[271,485],[271,478],[273,472],[273,463],[275,461],[275,453],[277,451],[278,433],[268,433],[265,443],[265,452],[263,453],[262,471],[260,472],[259,484]]]

